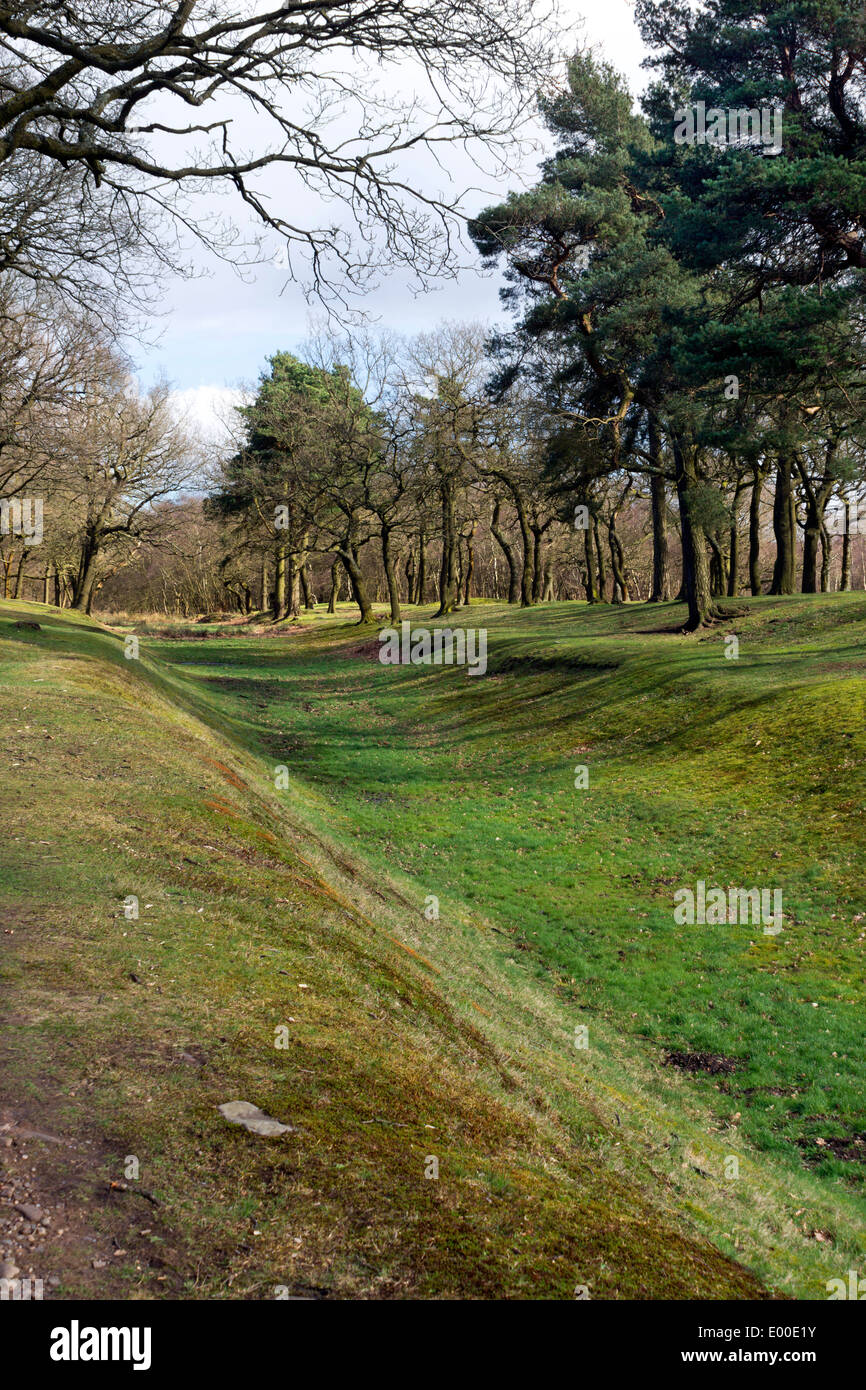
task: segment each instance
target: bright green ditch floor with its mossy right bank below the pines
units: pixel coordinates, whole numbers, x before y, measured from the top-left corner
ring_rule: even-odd
[[[461,621],[488,627],[482,678],[381,667],[345,617],[154,649],[207,678],[217,716],[297,776],[306,819],[389,874],[416,919],[427,892],[442,899],[449,954],[456,927],[470,954],[480,924],[509,931],[502,970],[520,952],[520,973],[589,1023],[595,1098],[644,1088],[653,1165],[706,1172],[683,1201],[805,1293],[801,1237],[835,1244],[840,1266],[865,1244],[866,600],[738,609],[683,638],[676,606],[480,605]],[[673,894],[698,878],[781,888],[784,933],[677,926]],[[737,1069],[683,1079],[659,1066],[667,1049]],[[694,1102],[692,1141],[678,1112]]]

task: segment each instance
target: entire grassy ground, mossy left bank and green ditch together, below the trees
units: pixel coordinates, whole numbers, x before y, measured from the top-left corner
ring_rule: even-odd
[[[65,1086],[57,1031],[92,1051],[104,1162],[158,1144],[188,1290],[291,1283],[291,1257],[302,1283],[384,1297],[758,1295],[731,1257],[822,1297],[862,1262],[862,1161],[816,1140],[866,1130],[863,596],[744,600],[702,638],[677,634],[676,606],[475,605],[474,678],[382,667],[348,610],[277,635],[142,626],[133,663],[117,637],[25,607],[51,626],[1,630],[29,724],[7,749],[26,788],[7,901],[47,922],[6,973]],[[781,887],[783,934],[677,926],[673,894],[698,878]],[[118,938],[126,892],[153,908]],[[286,979],[310,984],[303,1066],[268,1037],[299,1012]],[[153,1055],[117,1061],[115,1094],[124,1026]],[[183,1038],[209,1054],[193,1076],[165,1061]],[[671,1049],[737,1066],[684,1076]],[[299,1125],[285,1159],[214,1119],[238,1097]],[[175,1123],[154,1130],[164,1109]],[[240,1183],[227,1155],[252,1165]],[[238,1254],[252,1201],[267,1240]]]

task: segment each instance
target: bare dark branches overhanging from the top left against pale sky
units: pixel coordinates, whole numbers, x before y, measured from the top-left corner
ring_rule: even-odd
[[[149,206],[183,220],[183,186],[218,182],[289,256],[303,247],[320,292],[335,289],[335,270],[359,284],[384,260],[432,275],[449,252],[455,207],[413,186],[400,161],[443,142],[513,145],[549,64],[545,3],[0,4],[0,175],[14,177],[26,156],[74,170],[81,196],[104,193],[121,229],[146,221]],[[405,101],[395,64],[410,68],[414,96]],[[268,168],[348,207],[356,234],[336,221],[295,222],[292,193],[272,197],[261,181]],[[207,236],[200,218],[189,225]],[[93,245],[92,227],[88,235]]]

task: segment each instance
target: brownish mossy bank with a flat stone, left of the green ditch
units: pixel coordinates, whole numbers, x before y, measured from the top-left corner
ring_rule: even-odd
[[[573,1084],[567,1011],[492,934],[452,980],[360,866],[325,883],[192,684],[38,605],[0,609],[0,1111],[64,1141],[0,1165],[35,1168],[61,1297],[760,1297]]]

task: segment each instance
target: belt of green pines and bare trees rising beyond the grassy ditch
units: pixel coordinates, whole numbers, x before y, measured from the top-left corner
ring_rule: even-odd
[[[862,7],[639,0],[653,70],[639,107],[613,67],[574,54],[564,79],[542,85],[550,153],[537,185],[468,224],[482,263],[502,274],[510,327],[446,324],[411,341],[357,329],[275,352],[229,446],[207,460],[168,388],[135,385],[104,296],[111,256],[129,247],[131,274],[146,245],[126,181],[143,181],[138,197],[167,177],[129,153],[124,124],[158,82],[152,46],[177,60],[188,95],[210,51],[196,38],[190,58],[171,25],[153,29],[160,11],[147,7],[142,33],[126,35],[131,78],[93,31],[78,33],[70,85],[47,108],[33,83],[57,78],[49,19],[60,24],[60,7],[44,7],[42,28],[33,11],[26,35],[3,21],[32,83],[6,78],[0,195],[29,188],[40,207],[26,203],[18,253],[0,267],[7,595],[275,621],[345,595],[361,623],[382,600],[396,621],[405,603],[435,600],[448,614],[473,596],[680,598],[696,628],[741,592],[866,582]],[[484,6],[455,13],[493,24]],[[448,64],[453,35],[432,8],[418,14],[424,43]],[[270,24],[260,43],[272,58],[282,19]],[[373,29],[359,33],[375,49]],[[531,46],[518,57],[499,42],[496,63],[521,88]],[[484,61],[468,29],[460,44]],[[124,113],[101,133],[100,101]],[[254,203],[256,171],[236,172]],[[222,154],[206,174],[232,182]],[[124,190],[113,217],[122,206],[125,218],[101,250],[81,207],[46,242],[46,210],[65,206],[71,177],[97,202]],[[407,229],[392,195],[367,208],[386,242]],[[68,254],[56,272],[70,246],[75,274]],[[103,279],[85,285],[88,259]],[[50,523],[39,542],[24,509],[35,498]]]

